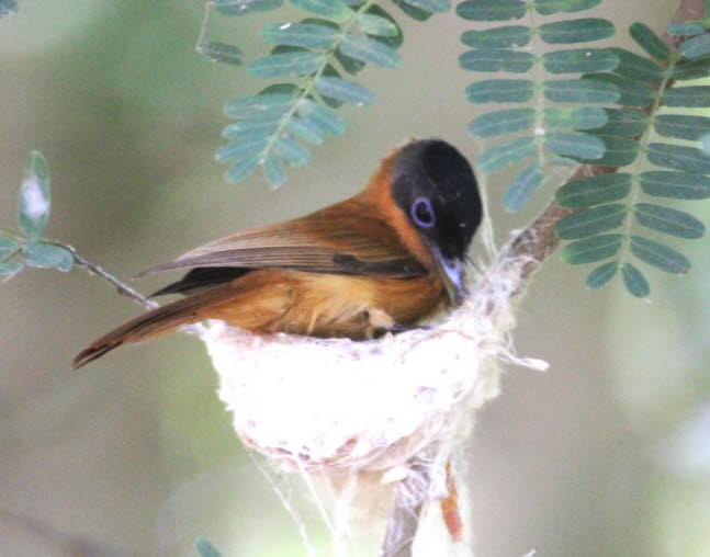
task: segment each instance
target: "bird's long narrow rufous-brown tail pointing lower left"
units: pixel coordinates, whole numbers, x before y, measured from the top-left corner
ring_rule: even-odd
[[[224,285],[146,311],[94,340],[75,356],[72,367],[77,370],[122,344],[140,342],[205,319],[201,310],[223,303],[230,293],[234,293],[234,287]]]

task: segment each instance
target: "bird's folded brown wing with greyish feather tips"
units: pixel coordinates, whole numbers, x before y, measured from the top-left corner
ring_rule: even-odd
[[[182,268],[278,268],[393,277],[426,273],[396,232],[357,197],[213,241],[142,275]]]

